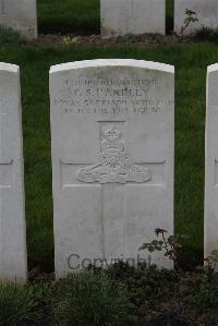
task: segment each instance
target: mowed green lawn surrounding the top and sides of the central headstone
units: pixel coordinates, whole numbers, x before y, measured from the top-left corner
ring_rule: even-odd
[[[175,65],[175,231],[190,236],[183,259],[199,262],[203,258],[206,67],[218,62],[218,46],[205,43],[150,47],[5,47],[0,49],[0,61],[21,65],[31,265],[37,263],[52,268],[53,262],[49,68],[95,58],[134,58]]]

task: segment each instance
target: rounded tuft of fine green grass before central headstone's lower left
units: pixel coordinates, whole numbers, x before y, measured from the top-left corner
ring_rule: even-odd
[[[99,270],[69,275],[56,285],[56,325],[125,326],[130,300],[126,288]]]

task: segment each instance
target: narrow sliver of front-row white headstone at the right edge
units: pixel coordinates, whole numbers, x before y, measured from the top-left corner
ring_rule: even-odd
[[[205,257],[218,249],[218,64],[207,69]]]

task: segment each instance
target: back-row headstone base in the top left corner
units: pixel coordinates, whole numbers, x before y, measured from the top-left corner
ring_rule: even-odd
[[[37,38],[36,0],[0,0],[0,25],[12,27],[26,39]]]

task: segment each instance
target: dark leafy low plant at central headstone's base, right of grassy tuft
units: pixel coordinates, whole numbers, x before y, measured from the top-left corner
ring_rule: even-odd
[[[177,281],[174,270],[158,270],[155,265],[140,263],[137,268],[128,263],[119,262],[111,265],[105,273],[128,288],[134,315],[147,315],[158,300],[166,301],[174,292]]]

